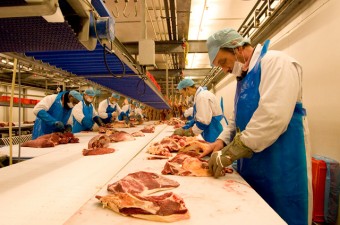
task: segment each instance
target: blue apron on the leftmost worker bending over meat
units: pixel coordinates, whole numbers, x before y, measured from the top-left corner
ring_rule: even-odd
[[[66,91],[60,92],[49,110],[47,111],[47,113],[55,118],[56,121],[61,121],[63,122],[63,124],[67,124],[67,121],[70,118],[72,112],[72,109],[65,109],[61,104],[61,98],[65,93]],[[32,140],[40,137],[41,135],[50,134],[53,132],[57,132],[57,129],[55,127],[48,126],[46,122],[37,117],[34,122]]]

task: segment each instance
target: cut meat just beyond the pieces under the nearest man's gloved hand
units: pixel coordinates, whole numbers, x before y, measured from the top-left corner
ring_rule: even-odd
[[[208,147],[208,142],[199,140],[196,137],[171,135],[170,137],[163,138],[160,142],[151,144],[147,149],[147,153],[157,156],[171,157],[172,152],[193,151],[201,153]]]

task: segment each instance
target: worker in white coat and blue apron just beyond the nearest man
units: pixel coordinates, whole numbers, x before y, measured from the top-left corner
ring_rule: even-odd
[[[186,78],[178,83],[177,89],[186,97],[194,95],[193,117],[191,128],[178,128],[174,134],[190,136],[201,134],[207,142],[214,142],[223,128],[227,127],[227,120],[223,115],[216,96],[206,87],[197,87],[192,79]]]

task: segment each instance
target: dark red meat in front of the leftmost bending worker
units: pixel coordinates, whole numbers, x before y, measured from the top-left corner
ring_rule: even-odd
[[[59,144],[79,143],[79,139],[72,133],[51,133],[38,137],[35,140],[29,140],[21,144],[21,147],[32,148],[49,148]]]

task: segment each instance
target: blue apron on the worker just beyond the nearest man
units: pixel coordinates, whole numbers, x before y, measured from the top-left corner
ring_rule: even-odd
[[[206,91],[207,88],[206,87],[203,87],[203,89],[201,89],[203,91]],[[201,91],[200,90],[200,91]],[[199,91],[199,92],[200,92]],[[198,93],[199,93],[198,92]],[[198,95],[197,93],[197,95]],[[196,96],[197,96],[196,95]],[[225,121],[227,122],[227,119],[225,118],[225,116],[223,115],[223,112],[222,112],[222,115],[218,115],[218,116],[213,116],[211,118],[211,121],[210,121],[210,124],[207,125],[207,124],[203,124],[199,121],[196,120],[196,103],[194,104],[194,110],[193,110],[193,117],[195,118],[195,123],[196,126],[203,130],[203,132],[201,133],[203,139],[207,142],[214,142],[216,141],[216,139],[218,138],[218,136],[220,135],[220,133],[223,131],[223,126],[221,124],[221,120],[222,119],[225,119]],[[193,125],[194,125],[193,124]],[[193,126],[192,125],[192,126]]]

